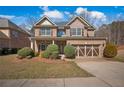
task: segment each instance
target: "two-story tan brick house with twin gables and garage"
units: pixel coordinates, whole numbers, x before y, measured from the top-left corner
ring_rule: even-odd
[[[106,38],[95,37],[95,28],[83,17],[76,16],[64,23],[54,23],[47,16],[42,17],[33,27],[31,48],[35,52],[44,51],[49,44],[57,44],[60,53],[64,46],[73,45],[77,57],[102,57]]]

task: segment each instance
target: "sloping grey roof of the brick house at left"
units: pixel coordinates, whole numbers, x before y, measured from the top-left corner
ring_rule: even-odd
[[[21,27],[17,26],[15,23],[11,22],[9,19],[6,19],[6,18],[0,18],[0,28],[17,29],[20,32],[23,32],[25,34],[30,35],[24,29],[22,29]]]

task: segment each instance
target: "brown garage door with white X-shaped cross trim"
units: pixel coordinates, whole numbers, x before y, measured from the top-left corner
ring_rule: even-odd
[[[78,57],[97,57],[99,56],[99,45],[75,45]]]

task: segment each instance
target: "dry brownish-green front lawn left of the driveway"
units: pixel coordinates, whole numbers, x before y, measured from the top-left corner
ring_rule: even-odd
[[[0,79],[92,76],[74,62],[43,62],[41,58],[18,60],[15,56],[0,56]]]

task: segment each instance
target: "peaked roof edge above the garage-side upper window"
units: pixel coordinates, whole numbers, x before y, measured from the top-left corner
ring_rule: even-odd
[[[94,26],[92,26],[87,20],[85,20],[85,19],[84,19],[83,17],[81,17],[81,16],[75,16],[75,17],[73,17],[73,18],[66,24],[66,26],[69,25],[69,24],[71,24],[75,19],[79,19],[80,21],[82,21],[83,23],[85,23],[88,27],[95,29]]]

